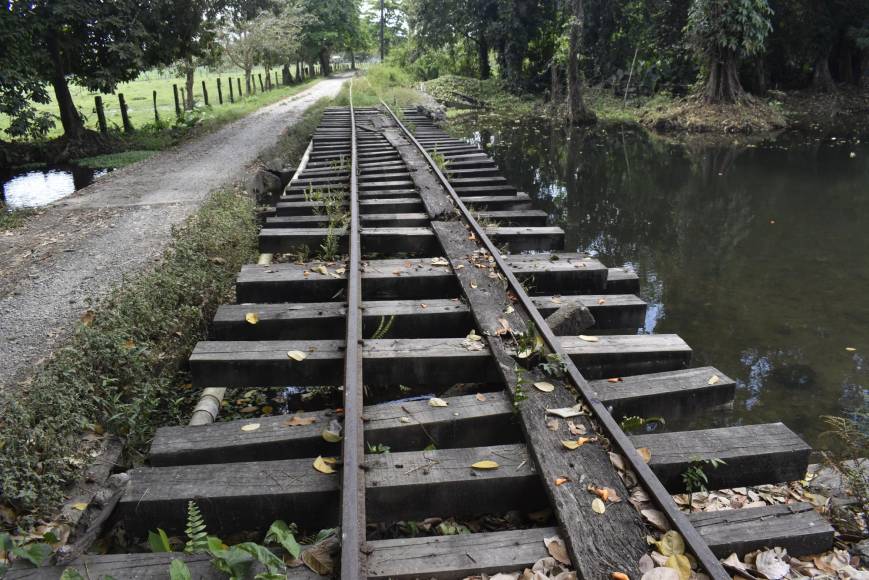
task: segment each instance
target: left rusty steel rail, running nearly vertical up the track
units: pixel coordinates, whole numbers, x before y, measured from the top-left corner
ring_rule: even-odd
[[[362,410],[362,288],[359,239],[358,158],[353,80],[350,80],[350,224],[347,263],[347,332],[344,358],[344,442],[341,476],[341,577],[365,578],[365,460]]]

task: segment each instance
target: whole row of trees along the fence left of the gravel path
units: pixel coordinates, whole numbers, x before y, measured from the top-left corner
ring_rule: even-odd
[[[231,64],[285,84],[335,52],[367,50],[371,25],[361,0],[7,0],[0,9],[0,113],[11,137],[39,138],[59,120],[64,136],[87,136],[70,84],[111,93],[143,71],[175,67],[192,109],[198,67]],[[50,102],[57,114],[40,113]]]

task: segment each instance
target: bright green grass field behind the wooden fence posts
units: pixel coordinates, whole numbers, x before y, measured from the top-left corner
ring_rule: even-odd
[[[278,73],[280,75],[280,71],[278,71]],[[254,70],[254,79],[257,78],[257,74],[263,75],[263,83],[265,83],[265,71],[261,68]],[[218,104],[217,98],[218,77],[222,79],[223,83],[222,106]],[[230,78],[234,83],[234,104],[229,103],[228,82]],[[261,93],[259,90],[259,81],[257,81],[257,93],[239,101],[238,81],[236,80],[239,78],[241,79],[242,90],[244,90],[244,73],[242,71],[234,70],[224,73],[216,73],[200,69],[200,71],[197,71],[196,80],[193,83],[193,95],[197,105],[204,104],[202,98],[202,81],[205,81],[206,88],[208,89],[208,100],[212,107],[211,114],[219,118],[227,117],[226,120],[233,120],[234,118],[244,116],[263,105],[278,101],[299,92],[304,87],[309,86],[309,83],[306,82],[302,85],[292,85],[290,87],[279,86],[274,90]],[[274,71],[272,71],[272,81],[274,81]],[[117,93],[124,94],[124,99],[127,101],[127,110],[129,111],[130,121],[133,123],[133,127],[137,128],[147,123],[154,122],[153,91],[157,91],[157,112],[159,113],[160,118],[165,122],[171,123],[175,117],[175,100],[172,92],[173,83],[178,85],[179,90],[184,87],[184,79],[182,78],[174,77],[168,72],[158,73],[157,71],[149,71],[143,73],[135,81],[118,85],[115,94],[102,95],[103,106],[106,111],[106,121],[108,122],[109,129],[113,127],[120,128],[122,126],[121,107],[118,103]],[[76,106],[85,117],[85,125],[88,128],[97,129],[97,114],[94,107],[94,97],[100,93],[92,93],[87,89],[76,85],[70,86],[70,92],[72,93]],[[50,88],[49,94],[52,98],[51,102],[45,105],[37,105],[37,109],[57,115],[57,103],[54,100],[54,92],[50,90]],[[5,115],[0,115],[0,131],[5,130],[8,126],[9,118]],[[48,134],[48,138],[58,137],[62,133],[63,128],[60,125],[60,119],[57,119],[54,129]],[[5,133],[0,135],[2,135],[0,138],[9,138]]]

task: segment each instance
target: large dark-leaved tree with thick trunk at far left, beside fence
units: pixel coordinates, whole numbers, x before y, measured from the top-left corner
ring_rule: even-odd
[[[4,75],[0,95],[8,96],[10,86],[25,79],[30,87],[50,84],[64,134],[70,139],[81,138],[84,121],[72,100],[69,83],[111,92],[118,83],[135,79],[150,66],[168,64],[172,52],[164,43],[167,23],[161,21],[167,2],[170,0],[7,1],[4,20],[14,22],[31,42],[26,51],[18,51],[13,64],[26,76],[13,78],[9,84]],[[0,44],[8,43],[6,35],[0,38]],[[38,92],[36,96],[40,96]],[[4,98],[7,110],[8,104]],[[19,107],[18,118],[26,111],[27,107]]]

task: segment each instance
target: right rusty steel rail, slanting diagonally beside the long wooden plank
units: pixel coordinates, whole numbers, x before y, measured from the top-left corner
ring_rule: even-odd
[[[725,571],[724,567],[721,565],[721,562],[719,562],[718,558],[715,557],[715,555],[709,549],[709,546],[706,544],[706,542],[703,540],[697,530],[694,529],[694,526],[692,526],[691,523],[688,521],[688,518],[686,518],[685,515],[680,512],[679,509],[676,507],[676,504],[673,501],[673,498],[670,496],[670,493],[664,488],[660,480],[657,478],[657,476],[655,476],[649,466],[646,465],[640,454],[636,452],[630,439],[621,429],[621,427],[610,414],[610,412],[607,410],[606,406],[600,401],[600,399],[594,396],[588,382],[585,380],[582,374],[580,374],[579,369],[576,368],[576,365],[573,363],[570,356],[568,356],[564,349],[561,347],[561,344],[552,333],[549,325],[546,323],[543,316],[537,310],[537,307],[534,306],[531,298],[525,292],[522,284],[519,283],[519,280],[516,279],[516,276],[507,266],[506,262],[504,262],[504,259],[502,258],[501,253],[498,251],[498,248],[495,247],[495,244],[493,244],[489,237],[486,235],[484,228],[480,226],[480,224],[468,210],[467,206],[464,204],[464,202],[462,202],[455,189],[453,189],[452,185],[450,185],[449,180],[446,178],[440,168],[438,168],[437,163],[434,162],[434,160],[428,154],[428,151],[426,151],[425,147],[423,147],[422,144],[417,141],[413,133],[411,133],[407,129],[407,127],[404,126],[404,124],[392,111],[389,105],[387,105],[386,102],[382,99],[380,102],[386,109],[386,111],[390,114],[390,116],[393,118],[393,120],[404,132],[405,137],[414,144],[414,146],[419,150],[420,154],[422,154],[422,156],[425,158],[432,172],[434,172],[438,180],[441,182],[441,185],[443,185],[444,189],[446,189],[453,202],[456,204],[456,207],[459,209],[463,219],[466,220],[466,222],[470,225],[471,229],[474,232],[474,235],[477,237],[478,240],[481,241],[489,254],[495,259],[495,263],[497,264],[501,274],[503,274],[505,279],[507,280],[510,291],[514,293],[514,295],[522,303],[522,306],[528,312],[532,322],[534,322],[535,326],[540,332],[540,335],[546,343],[546,346],[550,349],[551,352],[557,354],[561,358],[561,360],[565,362],[565,365],[567,367],[567,373],[570,376],[570,379],[573,382],[574,386],[582,396],[583,402],[588,405],[588,407],[594,414],[594,418],[603,427],[610,441],[615,444],[618,452],[621,453],[621,455],[626,459],[634,473],[637,474],[640,484],[649,493],[655,504],[657,504],[657,506],[661,508],[664,514],[666,514],[667,518],[670,520],[670,523],[673,525],[673,529],[682,534],[682,537],[685,539],[686,547],[691,550],[691,552],[693,552],[694,556],[697,558],[700,565],[705,569],[706,573],[715,580],[729,580],[730,574]]]

